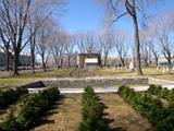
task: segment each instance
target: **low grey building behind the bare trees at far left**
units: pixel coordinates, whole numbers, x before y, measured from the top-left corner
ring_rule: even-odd
[[[0,70],[5,69],[5,59],[7,59],[7,53],[0,51]],[[9,61],[9,66],[11,68],[13,67],[13,59],[11,59],[11,58]],[[30,67],[30,56],[21,55],[20,61],[18,61],[18,67]]]

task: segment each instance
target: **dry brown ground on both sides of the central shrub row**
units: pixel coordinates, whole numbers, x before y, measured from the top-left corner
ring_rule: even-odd
[[[116,94],[100,94],[112,131],[151,131],[151,124]],[[34,131],[77,131],[80,95],[65,95]]]

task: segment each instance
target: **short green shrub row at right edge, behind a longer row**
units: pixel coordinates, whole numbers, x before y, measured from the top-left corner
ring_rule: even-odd
[[[170,91],[161,85],[150,85],[148,93],[157,95],[160,98],[165,98],[170,102],[174,102],[174,90]]]

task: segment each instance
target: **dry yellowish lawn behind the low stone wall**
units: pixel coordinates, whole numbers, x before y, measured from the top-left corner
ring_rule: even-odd
[[[145,76],[152,76],[158,79],[171,80],[174,81],[174,71],[171,73],[162,73],[161,70],[156,70],[156,68],[144,68],[142,69]],[[7,72],[5,72],[7,73]],[[60,69],[60,70],[49,70],[47,72],[38,71],[35,74],[32,74],[28,71],[22,71],[18,76],[3,76],[0,79],[0,87],[3,86],[16,86],[23,85],[29,82],[33,82],[37,79],[45,78],[85,78],[85,76],[136,76],[136,72],[130,72],[125,69],[99,69],[96,71],[86,71],[78,69]]]

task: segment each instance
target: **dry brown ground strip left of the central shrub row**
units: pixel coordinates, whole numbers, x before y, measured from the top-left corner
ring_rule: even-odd
[[[34,131],[76,131],[80,121],[80,95],[65,95],[50,111],[46,123]]]

